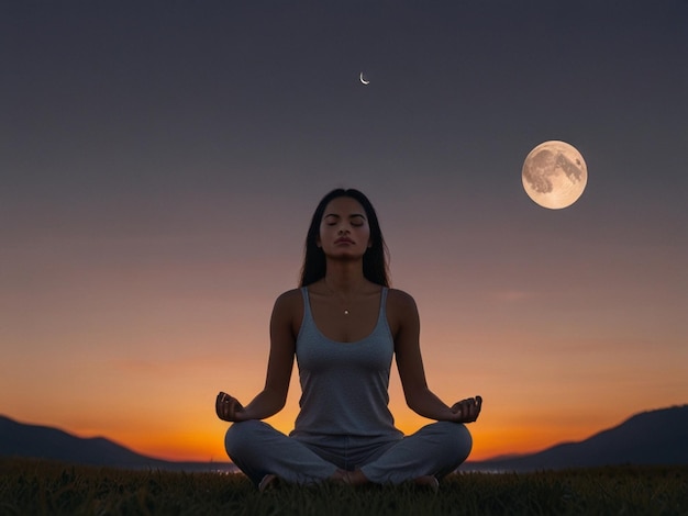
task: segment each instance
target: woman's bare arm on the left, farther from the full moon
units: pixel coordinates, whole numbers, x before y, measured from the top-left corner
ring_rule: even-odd
[[[245,407],[229,394],[221,392],[215,402],[218,417],[228,422],[265,419],[282,410],[289,392],[289,380],[296,351],[295,303],[298,291],[286,292],[275,302],[270,317],[270,355],[265,388]]]

